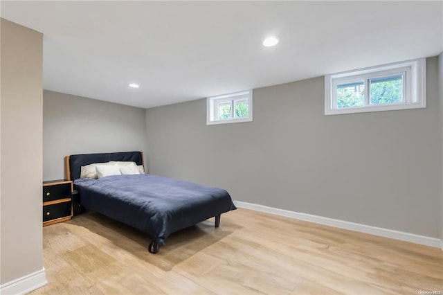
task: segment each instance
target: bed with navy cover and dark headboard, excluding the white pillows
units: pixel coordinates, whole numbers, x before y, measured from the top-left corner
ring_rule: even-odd
[[[145,173],[80,177],[82,166],[93,163],[134,162],[141,167],[142,152],[73,154],[65,161],[66,178],[73,181],[80,205],[150,235],[150,253],[157,253],[171,233],[211,217],[218,227],[220,215],[236,209],[226,190],[188,181]]]

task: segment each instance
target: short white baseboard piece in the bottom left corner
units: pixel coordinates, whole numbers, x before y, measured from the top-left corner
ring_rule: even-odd
[[[16,280],[11,280],[8,283],[0,285],[1,295],[16,295],[16,294],[26,294],[39,287],[46,285],[48,281],[46,280],[44,268],[39,271],[35,271],[33,274],[28,274],[27,276],[22,276]]]

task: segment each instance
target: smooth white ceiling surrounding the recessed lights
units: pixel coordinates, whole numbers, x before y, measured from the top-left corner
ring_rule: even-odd
[[[442,1],[3,0],[1,17],[44,33],[44,89],[145,108],[443,51]]]

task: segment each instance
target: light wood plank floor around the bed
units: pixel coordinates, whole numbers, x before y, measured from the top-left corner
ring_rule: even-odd
[[[45,226],[32,294],[443,293],[443,251],[239,209],[150,239],[96,213]]]

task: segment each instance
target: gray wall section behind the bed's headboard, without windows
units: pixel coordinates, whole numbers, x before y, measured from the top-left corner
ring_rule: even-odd
[[[66,155],[146,152],[146,143],[145,109],[43,92],[44,180],[64,178]]]

